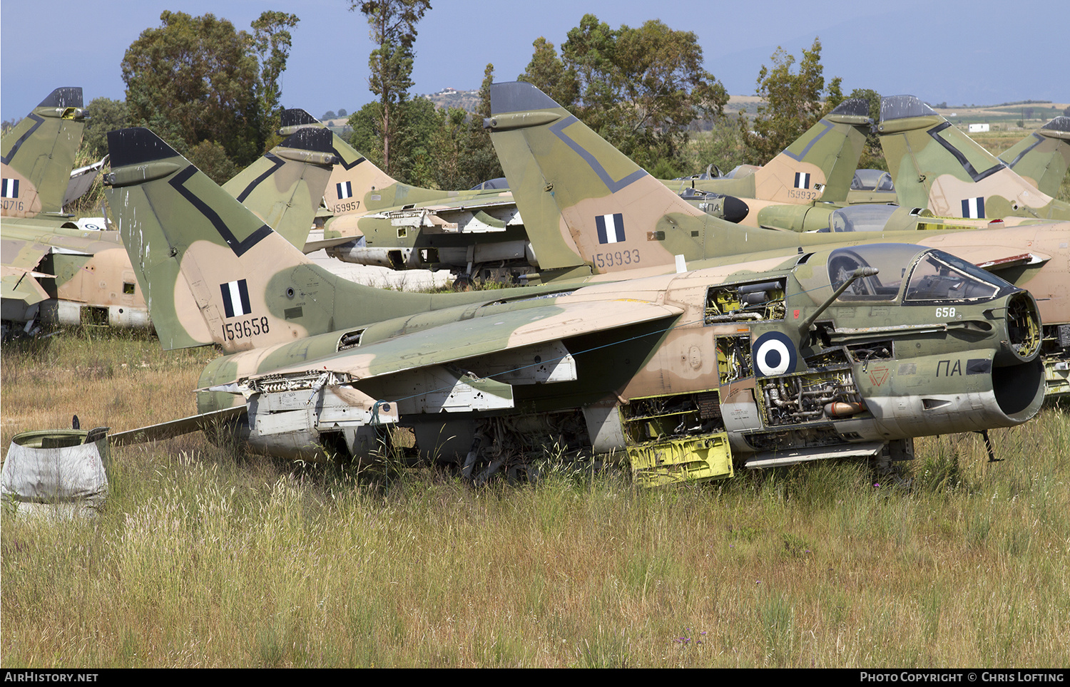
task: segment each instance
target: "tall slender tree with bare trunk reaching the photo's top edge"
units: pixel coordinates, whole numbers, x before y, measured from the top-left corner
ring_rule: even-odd
[[[379,96],[382,118],[380,138],[383,170],[397,177],[399,170],[391,159],[391,145],[399,122],[392,118],[403,108],[412,88],[412,62],[415,57],[416,24],[431,9],[430,0],[350,0],[350,12],[360,10],[368,21],[368,36],[377,47],[368,58],[371,76],[368,89]]]

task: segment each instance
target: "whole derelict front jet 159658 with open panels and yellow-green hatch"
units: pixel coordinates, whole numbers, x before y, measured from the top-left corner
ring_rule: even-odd
[[[160,343],[227,354],[201,376],[197,416],[116,443],[229,422],[266,454],[386,447],[479,477],[555,443],[626,452],[655,485],[908,458],[915,436],[1014,425],[1042,403],[1033,297],[943,251],[385,292],[310,263],[151,131],[112,131],[109,147],[108,202]]]

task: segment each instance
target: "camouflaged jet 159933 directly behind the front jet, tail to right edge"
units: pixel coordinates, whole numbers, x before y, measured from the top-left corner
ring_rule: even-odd
[[[485,122],[531,236],[544,282],[621,279],[878,241],[938,247],[1006,276],[1040,300],[1052,393],[1070,393],[1070,224],[908,216],[905,231],[796,234],[724,222],[683,202],[530,83],[491,87]],[[858,206],[863,207],[863,206]],[[843,208],[846,212],[849,208]],[[889,207],[895,210],[896,208]],[[885,220],[887,221],[887,219]],[[928,231],[917,231],[924,229]]]

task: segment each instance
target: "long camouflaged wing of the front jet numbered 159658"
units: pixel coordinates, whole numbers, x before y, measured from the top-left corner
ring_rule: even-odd
[[[355,380],[367,379],[579,334],[608,332],[628,325],[675,317],[683,312],[674,306],[630,299],[526,308],[429,327],[251,378],[326,371],[347,374]],[[614,335],[609,334],[606,343],[613,341]],[[519,363],[518,359],[518,364],[524,363]]]

